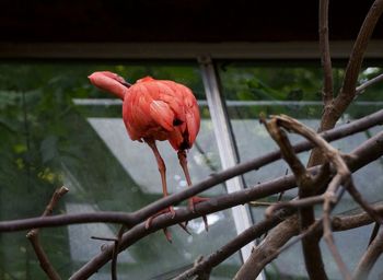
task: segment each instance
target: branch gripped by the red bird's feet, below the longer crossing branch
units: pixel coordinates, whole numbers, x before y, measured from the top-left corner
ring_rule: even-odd
[[[383,154],[383,132],[376,135],[375,137],[367,140],[364,143],[362,143],[359,148],[352,151],[352,155],[349,156],[349,160],[347,164],[349,165],[349,168],[355,172],[357,168],[361,168],[362,166],[367,165],[369,162],[379,159]],[[361,165],[360,163],[363,163]],[[312,167],[310,168],[313,173],[318,173],[320,167]],[[230,207],[233,207],[235,205],[245,203],[246,201],[259,199],[263,196],[268,196],[269,189],[274,188],[274,194],[281,191],[281,185],[283,185],[283,188],[292,188],[295,186],[295,180],[292,175],[283,176],[281,178],[274,179],[271,182],[267,182],[260,185],[256,185],[252,188],[247,188],[245,190],[236,191],[230,195],[224,195],[218,198],[211,198],[209,201],[201,202],[196,206],[196,212],[193,213],[188,209],[178,209],[176,210],[176,215],[174,219],[172,219],[171,214],[165,214],[158,217],[153,220],[152,225],[149,230],[146,230],[144,223],[138,224],[135,228],[130,229],[127,233],[124,234],[121,244],[120,244],[120,250],[126,249],[131,244],[137,242],[138,240],[147,236],[151,232],[158,231],[162,228],[169,228],[170,225],[177,224],[183,221],[187,221],[197,217],[201,217],[202,214],[208,214],[211,212],[217,212],[219,210],[223,210]],[[236,203],[234,202],[236,201]],[[382,207],[383,209],[383,207]],[[348,230],[352,229],[352,226],[360,226],[359,224],[365,225],[371,223],[372,219],[369,218],[368,214],[358,214],[356,217],[352,217],[352,219],[343,218],[340,219],[333,219],[334,220],[334,230]],[[298,220],[297,220],[298,221]],[[298,222],[293,219],[288,219],[286,222],[282,222],[281,229],[289,228],[291,224],[298,224]],[[277,231],[280,230],[279,225],[277,225]],[[292,229],[293,230],[293,229]],[[297,232],[299,232],[299,226],[297,228]],[[298,234],[298,233],[297,233]],[[285,237],[287,241],[293,236],[286,234],[283,232],[281,234],[282,238],[277,237],[275,241],[279,244],[279,242],[283,241]],[[287,242],[286,241],[286,242]],[[114,249],[113,245],[106,246],[102,253],[96,255],[93,259],[91,259],[86,265],[84,265],[80,270],[78,270],[72,277],[71,280],[78,280],[78,279],[86,279],[91,277],[93,273],[95,273],[101,267],[103,267],[108,260],[112,258],[112,252]],[[252,254],[253,255],[253,254]],[[262,264],[266,266],[268,262],[265,261],[264,257],[266,255],[259,255],[254,257],[255,262],[252,265],[248,265],[251,267],[253,266],[259,266],[262,267]],[[262,268],[260,268],[262,270]]]

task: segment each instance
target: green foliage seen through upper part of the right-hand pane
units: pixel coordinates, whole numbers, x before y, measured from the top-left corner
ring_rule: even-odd
[[[381,67],[369,67],[361,71],[359,84],[383,72]],[[245,62],[219,65],[219,74],[222,82],[224,97],[227,98],[230,117],[258,118],[260,113],[266,115],[287,114],[297,118],[316,118],[322,114],[322,69],[316,65],[302,66],[256,66]],[[333,69],[334,94],[336,95],[344,78],[343,68]],[[359,101],[383,101],[380,91],[383,83],[378,83],[360,94]],[[242,102],[232,106],[232,101]],[[259,102],[248,103],[246,102]],[[266,102],[266,103],[265,103]],[[267,103],[269,102],[269,103]],[[280,103],[278,103],[280,102]],[[364,104],[365,105],[365,104]],[[374,112],[380,104],[368,106],[352,105],[348,114],[358,118]]]

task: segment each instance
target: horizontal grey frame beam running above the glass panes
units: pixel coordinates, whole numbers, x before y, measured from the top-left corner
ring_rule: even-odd
[[[353,42],[333,40],[333,59],[348,59]],[[317,42],[278,43],[0,43],[0,59],[320,59]],[[365,58],[383,57],[383,39],[372,39]]]

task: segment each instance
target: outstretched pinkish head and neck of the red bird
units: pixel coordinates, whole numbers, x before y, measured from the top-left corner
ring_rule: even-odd
[[[109,71],[94,72],[88,78],[93,85],[100,90],[113,93],[120,100],[124,100],[127,89],[131,86],[123,77]]]

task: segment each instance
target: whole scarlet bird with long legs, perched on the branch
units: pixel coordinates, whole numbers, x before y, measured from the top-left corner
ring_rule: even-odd
[[[89,75],[89,79],[100,90],[123,101],[123,119],[127,132],[131,140],[147,143],[152,150],[161,175],[163,196],[169,196],[166,165],[156,148],[156,141],[167,140],[177,152],[187,185],[190,186],[186,151],[193,147],[200,128],[199,107],[192,90],[184,84],[171,80],[156,80],[149,75],[130,84],[123,77],[109,71],[96,71]],[[188,207],[195,212],[195,205],[206,200],[208,198],[192,197]],[[146,228],[150,228],[153,218],[167,212],[175,217],[175,211],[170,206],[150,217]],[[202,219],[208,231],[206,215],[202,215]],[[187,222],[179,225],[188,232]],[[172,242],[167,229],[163,231],[166,240]]]

